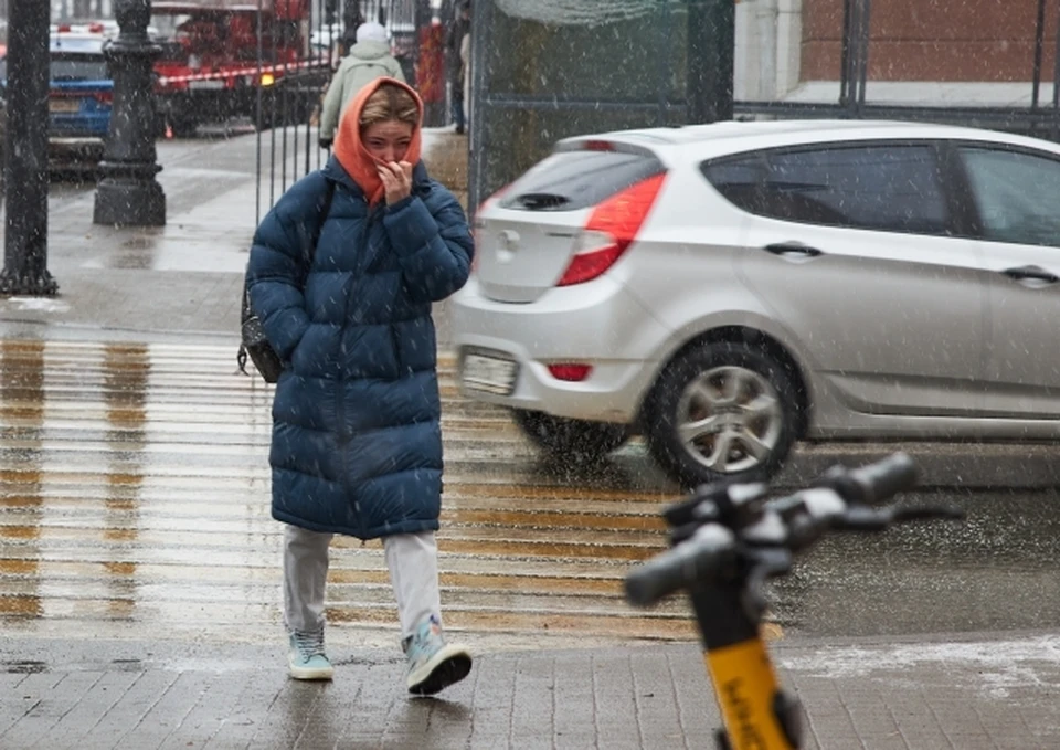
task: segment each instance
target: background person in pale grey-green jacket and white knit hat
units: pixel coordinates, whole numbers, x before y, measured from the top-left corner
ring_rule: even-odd
[[[405,82],[401,63],[390,54],[386,30],[379,23],[357,28],[357,44],[339,64],[320,112],[320,148],[331,148],[339,118],[353,96],[375,78],[389,77]]]

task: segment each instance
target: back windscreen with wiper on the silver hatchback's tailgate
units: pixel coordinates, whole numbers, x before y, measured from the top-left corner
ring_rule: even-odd
[[[662,163],[646,154],[560,151],[512,182],[500,205],[523,211],[577,211],[661,171]]]

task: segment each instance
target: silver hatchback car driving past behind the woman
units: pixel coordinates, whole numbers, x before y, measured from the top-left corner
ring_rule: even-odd
[[[796,440],[1053,440],[1060,145],[888,122],[560,142],[484,203],[463,392],[679,482]]]

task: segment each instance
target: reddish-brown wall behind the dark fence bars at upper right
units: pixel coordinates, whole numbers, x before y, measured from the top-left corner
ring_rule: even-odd
[[[1060,0],[1046,1],[1042,81]],[[803,81],[839,78],[842,0],[803,0]],[[1038,0],[876,0],[870,81],[1030,81]]]

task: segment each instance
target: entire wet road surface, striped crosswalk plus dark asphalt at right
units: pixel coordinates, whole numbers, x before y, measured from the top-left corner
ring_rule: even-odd
[[[271,389],[223,346],[0,342],[0,617],[25,634],[232,640],[279,628],[268,517]],[[637,445],[593,471],[542,463],[443,365],[442,583],[451,627],[491,647],[695,637],[683,602],[640,612],[624,573],[662,549],[674,499]],[[910,498],[911,500],[918,497]],[[1054,493],[934,492],[963,524],[825,540],[772,587],[786,634],[1048,627]],[[378,543],[335,549],[329,616],[393,638]]]

